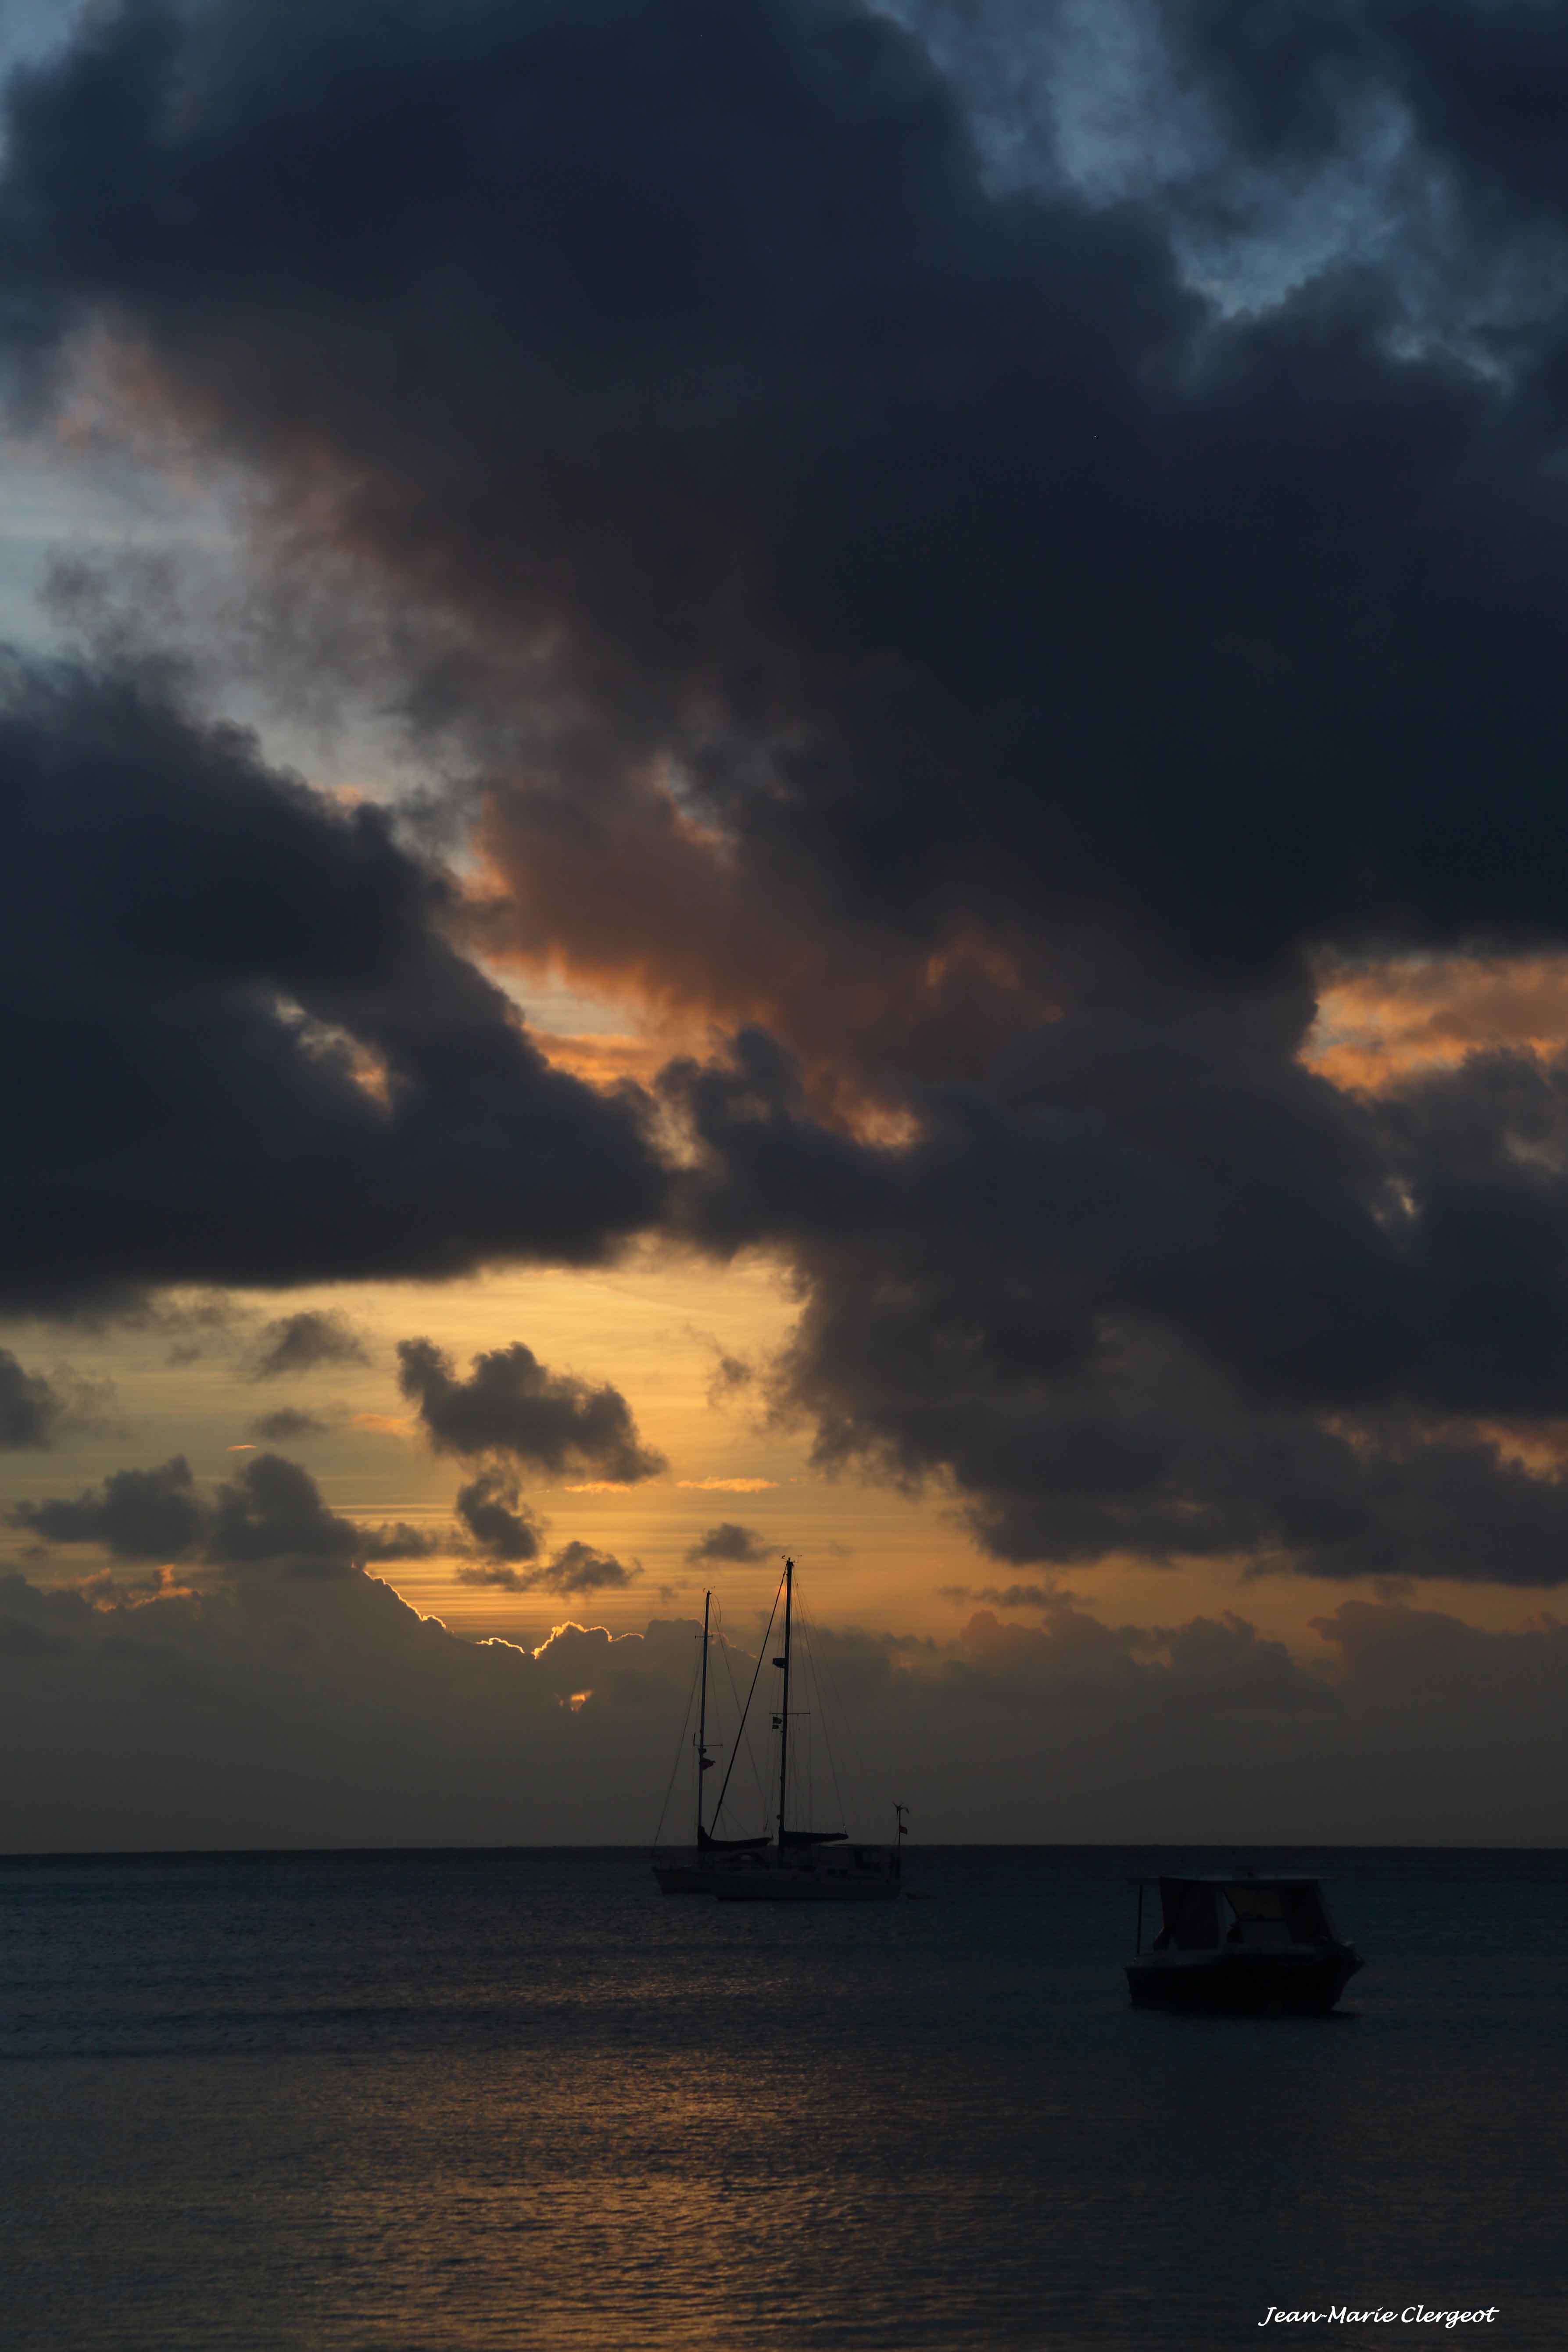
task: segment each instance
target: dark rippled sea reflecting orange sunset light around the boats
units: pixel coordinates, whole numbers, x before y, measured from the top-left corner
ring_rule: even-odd
[[[1326,1879],[1333,2018],[1128,2006],[1131,1882],[1239,1860]],[[905,1886],[0,1860],[0,2343],[1568,2345],[1566,1853],[910,1846]]]

